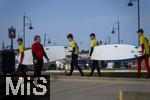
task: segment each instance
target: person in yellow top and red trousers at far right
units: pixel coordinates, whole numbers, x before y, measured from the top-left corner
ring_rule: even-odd
[[[144,35],[143,29],[139,29],[137,31],[140,39],[140,45],[142,48],[142,57],[138,58],[138,77],[141,75],[141,63],[145,61],[145,68],[147,69],[147,77],[150,78],[150,66],[149,66],[149,55],[150,55],[150,48],[149,48],[149,39]]]

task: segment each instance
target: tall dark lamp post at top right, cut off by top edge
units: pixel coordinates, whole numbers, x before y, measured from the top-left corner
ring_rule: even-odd
[[[140,29],[140,0],[129,0],[129,3],[128,3],[128,6],[131,7],[133,6],[133,2],[137,2],[137,5],[138,5],[138,30]],[[138,40],[138,45],[139,44],[139,40]]]

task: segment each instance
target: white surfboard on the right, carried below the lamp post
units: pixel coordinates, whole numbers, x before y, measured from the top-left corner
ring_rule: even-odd
[[[127,44],[100,45],[94,48],[92,60],[128,60],[141,56],[141,48]]]

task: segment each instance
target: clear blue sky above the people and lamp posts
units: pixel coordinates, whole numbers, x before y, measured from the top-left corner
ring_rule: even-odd
[[[111,34],[113,23],[120,21],[121,40],[137,45],[137,2],[128,7],[129,0],[0,0],[0,49],[4,41],[10,45],[8,28],[16,28],[22,36],[23,15],[32,19],[34,29],[26,26],[26,47],[31,47],[35,35],[47,34],[51,44],[69,45],[66,35],[72,33],[80,50],[90,48],[91,32],[98,40],[117,43],[117,32]],[[150,0],[140,0],[141,28],[150,37]],[[29,20],[26,20],[28,23]],[[14,48],[17,48],[16,39]]]

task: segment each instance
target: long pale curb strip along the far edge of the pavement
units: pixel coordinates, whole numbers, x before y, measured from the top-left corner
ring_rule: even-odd
[[[63,81],[90,81],[90,82],[107,82],[107,83],[120,83],[120,84],[148,84],[150,79],[144,78],[110,78],[110,77],[80,77],[80,76],[50,76],[50,81],[63,80]]]

